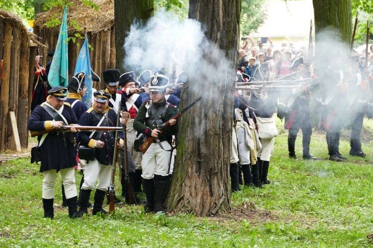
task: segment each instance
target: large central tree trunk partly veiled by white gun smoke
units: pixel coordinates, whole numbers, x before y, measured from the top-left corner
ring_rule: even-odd
[[[201,46],[198,70],[186,65],[188,82],[180,109],[199,95],[203,99],[178,121],[169,211],[209,216],[231,209],[229,160],[240,11],[241,0],[189,0],[189,18],[201,23],[209,43]]]

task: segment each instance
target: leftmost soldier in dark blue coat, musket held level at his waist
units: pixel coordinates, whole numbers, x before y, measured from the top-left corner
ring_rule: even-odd
[[[48,91],[47,101],[36,106],[28,120],[30,131],[43,131],[60,128],[63,125],[78,123],[70,104],[66,100],[67,88],[56,86]],[[76,132],[75,127],[71,128]],[[61,173],[65,187],[69,216],[79,217],[77,212],[77,188],[75,186],[75,152],[71,132],[51,131],[38,136],[41,157],[40,172],[43,173],[43,208],[44,218],[54,217],[53,200],[56,174]]]

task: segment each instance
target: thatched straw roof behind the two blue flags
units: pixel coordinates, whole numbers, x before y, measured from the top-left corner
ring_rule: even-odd
[[[74,0],[74,4],[67,8],[68,11],[68,32],[75,33],[78,30],[71,26],[70,20],[74,19],[82,28],[81,33],[84,32],[84,27],[87,27],[87,32],[97,33],[99,31],[106,31],[114,25],[114,0],[93,0],[98,6],[95,11],[93,7],[86,6],[81,0]],[[34,25],[41,30],[47,28],[47,23],[51,17],[57,17],[62,20],[64,13],[64,6],[53,7],[51,10],[39,13],[36,15]],[[55,26],[54,29],[60,30],[60,25]]]

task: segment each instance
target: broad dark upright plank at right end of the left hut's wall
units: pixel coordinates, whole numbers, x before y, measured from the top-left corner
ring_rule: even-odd
[[[28,82],[30,76],[29,59],[30,59],[30,47],[29,47],[28,35],[23,32],[21,33],[21,47],[20,47],[20,60],[19,60],[19,87],[18,87],[18,134],[22,148],[27,148],[28,145]]]

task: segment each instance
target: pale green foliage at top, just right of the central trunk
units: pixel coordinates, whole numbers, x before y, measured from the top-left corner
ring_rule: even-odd
[[[240,33],[241,36],[250,35],[267,19],[268,0],[242,0]]]

